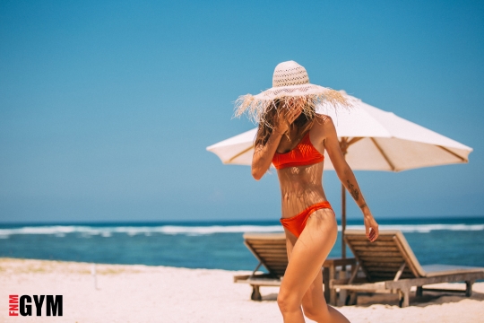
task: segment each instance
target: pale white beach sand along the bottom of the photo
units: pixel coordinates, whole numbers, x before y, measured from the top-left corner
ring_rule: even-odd
[[[98,265],[97,272],[95,290],[91,264],[0,258],[0,322],[282,321],[278,288],[263,287],[264,301],[250,301],[250,286],[233,283],[233,275],[248,272],[120,265]],[[42,317],[9,317],[9,294],[63,295],[64,316],[46,317],[44,308]],[[406,309],[394,304],[394,296],[361,296],[359,305],[339,310],[351,322],[480,322],[484,283],[474,284],[471,298],[432,292],[411,298]]]

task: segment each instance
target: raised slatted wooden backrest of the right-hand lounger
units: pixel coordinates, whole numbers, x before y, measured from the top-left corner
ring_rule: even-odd
[[[347,230],[345,241],[370,282],[393,280],[403,262],[401,278],[425,275],[401,231],[381,230],[378,239],[370,242],[364,230]]]

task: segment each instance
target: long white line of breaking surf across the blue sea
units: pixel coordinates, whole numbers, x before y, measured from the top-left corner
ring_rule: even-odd
[[[364,229],[363,225],[347,225],[348,229]],[[402,232],[428,233],[430,231],[484,231],[484,224],[383,224],[380,230],[400,230]],[[338,226],[341,231],[341,226]],[[15,234],[51,234],[64,237],[69,233],[81,233],[82,236],[100,235],[111,237],[115,233],[125,233],[129,236],[153,233],[160,234],[186,234],[206,235],[213,233],[243,233],[243,232],[281,232],[281,225],[211,225],[211,226],[82,226],[82,225],[51,225],[51,226],[25,226],[21,228],[0,229],[0,238],[8,238]]]

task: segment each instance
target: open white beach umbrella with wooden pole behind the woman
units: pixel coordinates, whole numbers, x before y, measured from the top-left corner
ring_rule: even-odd
[[[333,118],[341,151],[352,170],[401,171],[468,162],[472,148],[350,97],[353,108],[324,113]],[[319,109],[322,110],[322,109]],[[226,164],[250,165],[257,129],[207,147]],[[324,153],[324,170],[334,170]],[[341,185],[341,225],[346,227],[346,193]],[[344,241],[342,255],[345,256]]]

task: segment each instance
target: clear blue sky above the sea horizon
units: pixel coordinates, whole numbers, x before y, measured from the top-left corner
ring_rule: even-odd
[[[357,171],[376,218],[483,215],[483,39],[479,1],[0,1],[0,223],[279,219],[275,173],[205,147],[255,127],[233,101],[290,59],[474,148]]]

